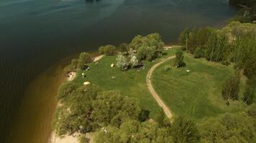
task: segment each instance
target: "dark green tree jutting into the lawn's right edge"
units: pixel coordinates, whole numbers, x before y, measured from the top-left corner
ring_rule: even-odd
[[[228,79],[223,84],[222,88],[222,97],[227,100],[227,104],[229,104],[229,99],[237,100],[239,97],[239,75],[236,75],[230,79]]]

